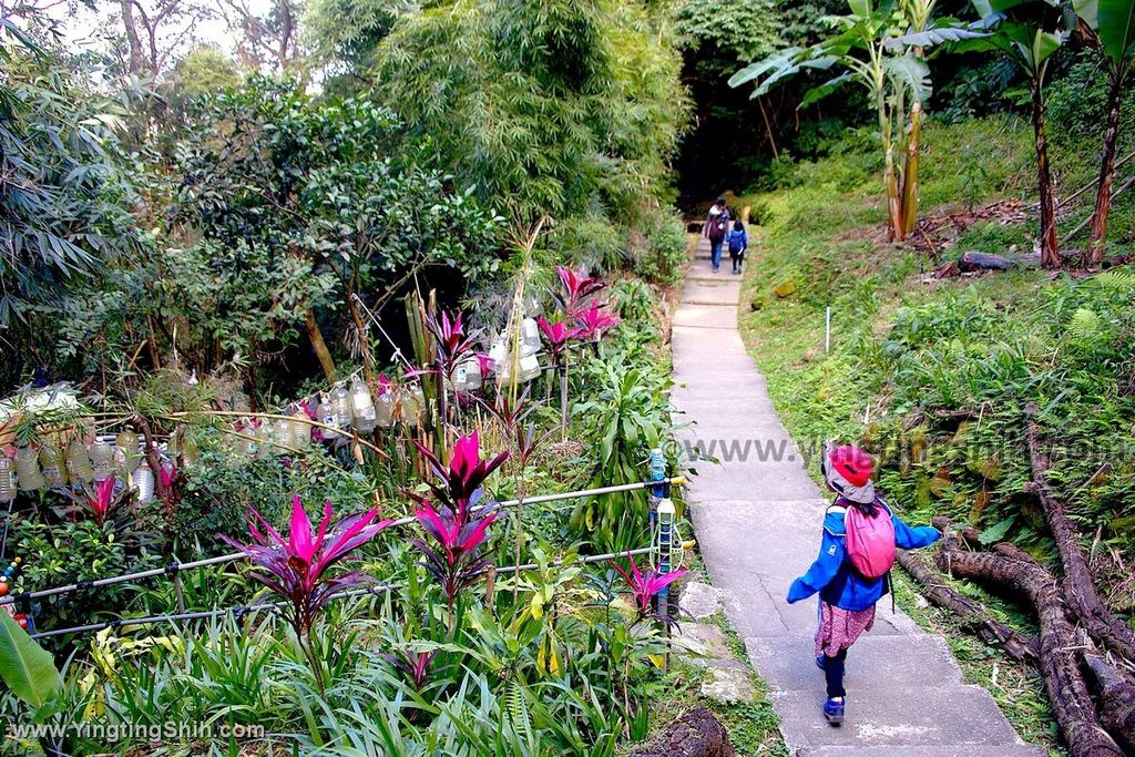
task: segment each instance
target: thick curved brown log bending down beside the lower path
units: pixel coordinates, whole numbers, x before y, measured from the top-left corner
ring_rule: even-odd
[[[1123,755],[1103,730],[1079,671],[1071,613],[1052,574],[1033,560],[969,552],[956,533],[942,540],[938,564],[960,578],[1011,587],[1028,598],[1041,626],[1039,667],[1073,757]]]

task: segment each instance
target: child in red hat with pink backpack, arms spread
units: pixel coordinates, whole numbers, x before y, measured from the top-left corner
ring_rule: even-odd
[[[788,590],[789,603],[819,592],[816,665],[824,671],[824,717],[843,723],[848,648],[875,622],[875,603],[890,591],[894,548],[916,549],[942,535],[930,525],[911,528],[894,515],[872,485],[872,460],[855,446],[825,446],[824,481],[836,497],[824,515],[819,556]]]

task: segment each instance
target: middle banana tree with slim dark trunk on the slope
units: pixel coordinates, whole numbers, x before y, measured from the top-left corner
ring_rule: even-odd
[[[1028,76],[1032,93],[1033,133],[1036,148],[1036,185],[1041,208],[1041,263],[1060,268],[1057,242],[1056,197],[1049,168],[1044,127],[1044,76],[1052,56],[1068,36],[1059,0],[972,0],[990,33],[966,40],[958,50],[1001,52]]]

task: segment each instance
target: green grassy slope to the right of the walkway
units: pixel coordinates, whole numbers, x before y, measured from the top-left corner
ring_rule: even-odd
[[[925,143],[924,216],[1031,197],[1027,123],[992,118],[931,125]],[[1093,174],[1090,153],[1057,159],[1066,193]],[[1135,286],[1119,287],[1119,297],[1109,295],[1101,305],[1095,285],[1051,281],[1035,269],[924,283],[922,274],[932,267],[926,255],[880,238],[884,212],[878,167],[869,138],[852,135],[832,157],[797,167],[789,188],[739,199],[739,204],[754,208],[760,224],[742,300],[751,306],[742,304],[741,313],[750,352],[768,377],[785,424],[807,449],[823,438],[840,437],[864,439],[875,451],[902,451],[905,455],[888,459],[882,478],[886,495],[901,508],[915,518],[947,513],[989,529],[991,538],[1000,531],[1048,554],[1043,521],[1020,491],[1027,460],[1019,446],[1002,443],[1019,444],[1019,406],[1025,399],[1041,401],[1052,426],[1078,419],[1068,429],[1069,436],[1079,435],[1076,438],[1094,432],[1121,439],[1125,430],[1129,434],[1120,417],[1130,413],[1135,401],[1113,388],[1129,370],[1121,367],[1124,356],[1113,350],[1085,356],[1068,344],[1063,331],[1085,308],[1102,312],[1109,325],[1118,322],[1116,313],[1135,295]],[[1093,199],[1087,193],[1084,202]],[[1073,224],[1086,207],[1073,212]],[[1135,238],[1130,197],[1117,203],[1111,228],[1111,239],[1129,246]],[[943,256],[962,250],[1027,252],[1033,229],[1031,218],[1007,226],[978,224]],[[797,289],[782,298],[773,288],[784,283]],[[825,355],[829,304],[833,347]],[[1053,321],[1061,319],[1066,322],[1058,328]],[[1087,334],[1082,340],[1099,346],[1110,344],[1108,338],[1118,343],[1119,335]],[[1065,389],[1069,384],[1074,388]],[[973,411],[976,418],[959,424],[934,415],[956,410]],[[919,462],[927,447],[927,457]],[[902,461],[911,454],[914,463]],[[816,474],[814,459],[810,464]],[[1058,465],[1059,482],[1078,486],[1091,474],[1084,472],[1086,464]],[[1133,481],[1128,461],[1102,489],[1073,497],[1086,532],[1101,528],[1105,542],[1127,554],[1132,529],[1116,521],[1124,506],[1135,502]],[[1024,738],[1052,743],[1051,714],[1032,671],[952,632],[950,619],[919,607],[925,603],[914,602],[908,588],[900,587],[899,596],[922,622],[948,633],[967,678],[994,693]],[[1027,628],[1019,608],[983,599],[1002,617]]]

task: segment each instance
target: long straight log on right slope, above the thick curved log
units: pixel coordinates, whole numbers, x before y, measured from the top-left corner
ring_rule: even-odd
[[[1028,459],[1033,470],[1033,491],[1041,501],[1044,520],[1060,550],[1063,566],[1063,595],[1071,612],[1084,629],[1103,647],[1129,662],[1135,662],[1135,633],[1130,626],[1111,614],[1095,590],[1095,580],[1087,566],[1087,558],[1077,544],[1076,531],[1068,520],[1065,503],[1056,497],[1048,482],[1049,457],[1041,448],[1037,406],[1025,407]]]

